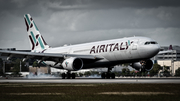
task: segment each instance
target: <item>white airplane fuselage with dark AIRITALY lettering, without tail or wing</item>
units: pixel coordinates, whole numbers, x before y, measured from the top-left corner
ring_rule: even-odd
[[[49,48],[44,53],[98,55],[104,59],[93,64],[85,64],[85,68],[104,67],[150,59],[159,52],[160,47],[158,44],[145,45],[146,42],[154,41],[147,37],[128,37]]]

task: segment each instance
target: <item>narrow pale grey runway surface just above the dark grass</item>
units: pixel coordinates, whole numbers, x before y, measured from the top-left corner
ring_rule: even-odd
[[[59,84],[76,84],[83,83],[84,86],[86,84],[94,84],[94,83],[180,83],[180,79],[37,79],[37,80],[16,80],[16,79],[1,79],[0,83],[59,83]],[[78,85],[74,85],[78,86]],[[89,85],[88,85],[89,86]],[[92,85],[91,85],[92,86]]]

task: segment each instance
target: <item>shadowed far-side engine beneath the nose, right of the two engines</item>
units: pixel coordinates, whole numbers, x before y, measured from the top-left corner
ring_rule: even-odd
[[[152,60],[146,60],[146,65],[142,66],[140,62],[135,62],[132,63],[132,68],[136,69],[136,70],[146,70],[146,71],[150,71],[153,68],[153,62]]]

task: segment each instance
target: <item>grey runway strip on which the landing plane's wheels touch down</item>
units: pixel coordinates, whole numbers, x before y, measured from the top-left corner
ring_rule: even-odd
[[[61,79],[61,78],[9,78],[0,79],[0,83],[173,83],[179,84],[180,78],[116,78],[116,79],[99,79],[99,78],[78,78],[78,79]]]

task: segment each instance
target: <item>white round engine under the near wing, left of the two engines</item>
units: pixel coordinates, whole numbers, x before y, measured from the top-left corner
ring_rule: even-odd
[[[62,66],[66,70],[77,71],[83,67],[83,61],[76,57],[70,57],[63,61]]]

